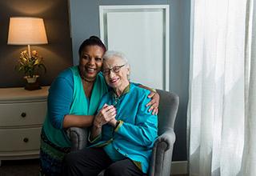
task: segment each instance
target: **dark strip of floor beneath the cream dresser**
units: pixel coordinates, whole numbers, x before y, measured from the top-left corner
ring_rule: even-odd
[[[2,161],[0,176],[38,176],[38,159]]]

